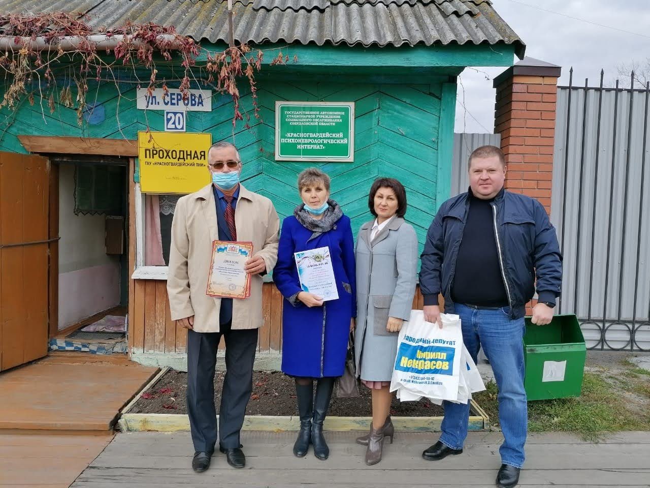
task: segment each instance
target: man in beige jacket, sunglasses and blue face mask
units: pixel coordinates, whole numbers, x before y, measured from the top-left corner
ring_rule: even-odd
[[[167,292],[172,319],[187,331],[187,409],[194,443],[192,468],[210,466],[217,440],[214,407],[216,350],[226,340],[226,377],[219,409],[219,450],[235,468],[246,464],[239,432],[250,400],[257,329],[263,323],[262,275],[278,259],[278,214],[268,198],[239,183],[239,152],[229,142],[208,151],[212,183],[181,197],[172,221]],[[206,294],[213,241],[253,243],[246,262],[250,297]]]

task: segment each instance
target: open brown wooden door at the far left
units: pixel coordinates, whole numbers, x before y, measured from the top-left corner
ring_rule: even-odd
[[[0,152],[0,370],[47,355],[49,167]]]

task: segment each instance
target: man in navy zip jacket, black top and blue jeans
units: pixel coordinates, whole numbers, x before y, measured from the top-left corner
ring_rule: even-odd
[[[443,203],[426,236],[420,286],[424,318],[442,327],[445,312],[458,314],[463,342],[474,362],[483,347],[499,386],[499,421],[504,442],[497,486],[513,487],[523,466],[528,424],[524,390],[525,305],[535,289],[532,322],[551,322],[562,284],[562,255],[543,206],[504,189],[501,150],[482,146],[469,157],[470,188]],[[442,435],[422,453],[438,460],[463,452],[469,403],[446,401]]]

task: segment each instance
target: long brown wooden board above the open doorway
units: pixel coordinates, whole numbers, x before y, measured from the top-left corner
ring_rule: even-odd
[[[34,153],[138,156],[138,141],[127,139],[19,135],[18,140],[25,149]]]

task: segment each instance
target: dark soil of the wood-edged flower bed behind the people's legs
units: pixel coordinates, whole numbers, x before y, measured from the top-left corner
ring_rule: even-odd
[[[217,372],[214,377],[214,403],[217,413],[221,401],[221,387],[224,373]],[[142,395],[129,413],[187,413],[185,394],[187,373],[169,370],[157,383]],[[253,374],[253,394],[246,414],[248,415],[296,415],[296,390],[294,380],[280,372],[255,372]],[[361,396],[357,398],[337,398],[336,389],[332,396],[331,416],[370,416],[370,390],[361,386]],[[428,400],[400,403],[393,399],[391,415],[395,416],[441,416],[443,411]]]

